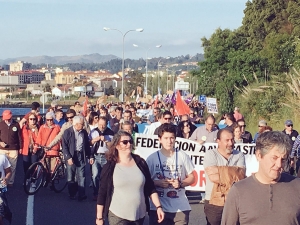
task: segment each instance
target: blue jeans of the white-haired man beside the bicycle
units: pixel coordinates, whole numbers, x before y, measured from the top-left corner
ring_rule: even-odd
[[[85,196],[85,160],[83,152],[75,151],[72,159],[72,166],[67,162],[69,194],[74,197],[78,188],[78,197],[80,198]]]

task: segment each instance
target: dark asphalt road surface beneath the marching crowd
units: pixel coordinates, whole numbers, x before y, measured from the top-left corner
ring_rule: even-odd
[[[88,174],[89,176],[89,174]],[[14,187],[9,188],[7,197],[13,213],[13,225],[26,224],[28,196],[22,186],[22,160],[19,158]],[[96,202],[92,201],[92,189],[87,188],[88,200],[78,202],[68,198],[67,188],[62,193],[54,193],[49,188],[41,188],[34,196],[34,225],[93,225],[95,224]],[[206,224],[203,205],[199,204],[199,193],[190,193],[192,212],[191,225]],[[146,219],[145,224],[148,224]],[[33,224],[28,224],[33,225]]]

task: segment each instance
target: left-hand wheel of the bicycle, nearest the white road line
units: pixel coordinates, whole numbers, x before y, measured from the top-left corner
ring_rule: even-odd
[[[38,192],[45,181],[45,168],[41,162],[33,163],[27,170],[24,178],[24,191],[28,195]]]

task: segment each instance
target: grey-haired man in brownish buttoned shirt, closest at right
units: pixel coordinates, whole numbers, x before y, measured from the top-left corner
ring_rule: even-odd
[[[255,151],[258,171],[232,186],[222,225],[300,223],[300,180],[283,173],[290,149],[291,142],[282,132],[259,135]]]

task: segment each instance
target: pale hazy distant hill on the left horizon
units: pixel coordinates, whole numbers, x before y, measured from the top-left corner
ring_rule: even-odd
[[[98,53],[89,55],[77,55],[77,56],[23,56],[17,58],[8,58],[1,60],[0,65],[9,64],[16,61],[25,61],[33,65],[37,64],[56,64],[64,65],[68,63],[104,63],[113,59],[118,59],[115,55],[100,55]]]

